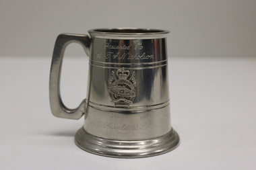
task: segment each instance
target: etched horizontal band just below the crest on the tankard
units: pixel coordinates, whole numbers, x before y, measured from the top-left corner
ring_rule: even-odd
[[[113,106],[113,105],[101,105],[99,103],[94,103],[92,101],[88,101],[88,106],[95,108],[97,110],[103,110],[106,112],[145,112],[150,110],[158,110],[164,108],[170,104],[170,99],[164,101],[163,103],[158,103],[156,105],[140,105],[140,106]]]

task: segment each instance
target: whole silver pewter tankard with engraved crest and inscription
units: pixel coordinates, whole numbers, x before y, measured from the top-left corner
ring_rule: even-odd
[[[54,116],[79,119],[80,148],[106,157],[137,158],[176,148],[170,124],[166,30],[108,28],[60,34],[53,51],[50,104]],[[90,56],[87,98],[74,110],[61,101],[61,63],[71,42]]]

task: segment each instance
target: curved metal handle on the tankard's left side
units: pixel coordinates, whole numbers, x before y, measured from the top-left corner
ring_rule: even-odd
[[[55,42],[55,47],[53,50],[53,60],[51,63],[51,73],[50,73],[50,105],[51,112],[54,116],[59,118],[68,119],[79,119],[86,111],[86,99],[75,109],[67,108],[60,94],[60,77],[61,77],[61,65],[63,60],[63,55],[65,48],[68,44],[76,42],[81,44],[84,48],[86,54],[90,54],[90,37],[81,34],[60,34]]]

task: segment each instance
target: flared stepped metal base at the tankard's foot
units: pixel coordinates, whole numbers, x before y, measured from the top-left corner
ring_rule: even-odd
[[[179,145],[179,135],[172,129],[164,136],[148,140],[109,140],[80,128],[75,134],[75,144],[84,151],[105,157],[141,158],[172,151]]]

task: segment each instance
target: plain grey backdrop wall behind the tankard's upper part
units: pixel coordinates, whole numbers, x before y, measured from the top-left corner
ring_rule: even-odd
[[[92,28],[170,30],[169,56],[256,56],[255,0],[4,1],[0,56],[51,56],[58,34]],[[85,55],[71,44],[67,55]]]

